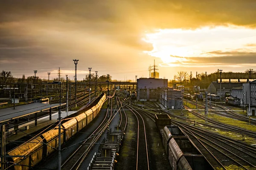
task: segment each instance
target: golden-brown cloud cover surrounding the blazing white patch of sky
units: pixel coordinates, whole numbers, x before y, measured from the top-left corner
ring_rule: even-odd
[[[151,44],[142,41],[144,31],[227,24],[256,27],[255,8],[254,0],[1,1],[0,67],[6,68],[10,60],[9,68],[70,68],[75,58],[81,65],[142,61],[146,59],[142,51],[152,50]],[[240,62],[245,60],[238,55],[254,55],[213,53],[237,55],[235,59]],[[187,59],[227,63],[230,58]]]

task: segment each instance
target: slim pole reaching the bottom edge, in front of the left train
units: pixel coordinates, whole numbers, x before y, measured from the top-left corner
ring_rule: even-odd
[[[58,170],[61,170],[61,82],[52,84],[60,85],[60,105],[58,107]]]

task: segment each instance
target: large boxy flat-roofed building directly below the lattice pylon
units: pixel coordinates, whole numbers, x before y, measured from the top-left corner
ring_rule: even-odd
[[[167,88],[168,79],[140,78],[137,79],[137,100],[157,101],[157,88]]]

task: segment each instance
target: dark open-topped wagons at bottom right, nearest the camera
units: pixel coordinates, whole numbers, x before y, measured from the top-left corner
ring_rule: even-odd
[[[214,170],[180,127],[165,126],[160,132],[172,170]]]

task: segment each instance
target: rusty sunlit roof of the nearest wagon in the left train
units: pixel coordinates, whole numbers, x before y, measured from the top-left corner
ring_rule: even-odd
[[[29,142],[26,142],[24,144],[21,144],[20,146],[16,147],[15,149],[11,150],[7,154],[9,156],[28,156],[29,153],[37,150],[39,147],[43,145],[42,143],[43,139],[38,136],[35,139],[30,140]],[[12,160],[16,163],[23,159],[22,157],[13,157]]]

